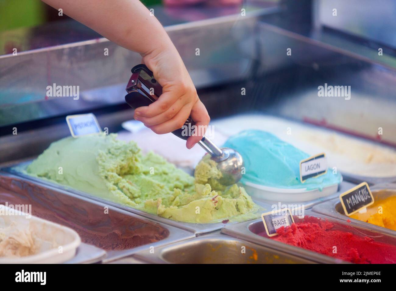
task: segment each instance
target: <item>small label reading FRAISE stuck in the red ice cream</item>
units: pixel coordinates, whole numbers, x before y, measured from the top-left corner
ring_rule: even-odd
[[[276,230],[282,226],[289,226],[294,223],[293,215],[288,208],[270,211],[261,215],[263,219],[265,232],[268,236],[277,236]]]

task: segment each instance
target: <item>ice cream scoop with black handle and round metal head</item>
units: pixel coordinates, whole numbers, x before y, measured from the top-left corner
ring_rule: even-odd
[[[132,76],[126,86],[128,94],[125,96],[126,103],[132,108],[148,106],[155,102],[162,94],[162,87],[155,80],[153,73],[140,64],[132,68]],[[187,140],[191,131],[194,129],[195,122],[188,117],[185,124],[180,128],[172,131],[181,139]],[[186,134],[187,133],[187,134]],[[232,148],[219,148],[208,137],[202,137],[199,145],[204,148],[210,155],[211,159],[217,163],[217,169],[222,174],[219,182],[223,185],[237,183],[242,177],[243,159],[242,156]]]

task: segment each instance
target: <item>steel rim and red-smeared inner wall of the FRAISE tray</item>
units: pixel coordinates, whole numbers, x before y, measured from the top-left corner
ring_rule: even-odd
[[[356,235],[359,236],[368,236],[368,237],[373,237],[374,240],[379,241],[379,242],[385,242],[385,243],[390,243],[392,245],[396,245],[396,239],[392,236],[388,236],[386,234],[381,234],[372,230],[367,230],[366,228],[362,228],[359,226],[353,226],[351,224],[348,224],[346,222],[343,222],[338,219],[333,219],[330,217],[326,217],[324,215],[320,215],[318,213],[314,213],[312,211],[307,211],[305,215],[313,216],[313,217],[320,217],[323,219],[328,219],[332,223],[334,223],[336,226],[339,226],[340,228],[347,228],[348,232],[352,232]],[[301,219],[299,219],[296,216],[294,217],[294,221],[298,222]],[[257,233],[264,231],[264,224],[263,221],[256,220],[256,221],[247,221],[244,223],[239,223],[236,225],[230,225],[226,226],[221,230],[222,233],[228,234],[230,236],[240,238],[242,240],[247,240],[249,242],[257,243],[259,245],[265,245],[266,247],[270,247],[272,249],[277,249],[280,251],[283,251],[285,253],[290,253],[292,255],[295,255],[297,257],[302,257],[314,262],[319,262],[319,263],[349,263],[342,261],[340,259],[335,259],[333,257],[329,257],[326,255],[322,255],[320,253],[315,253],[312,251],[308,251],[306,249],[300,248],[300,247],[295,247],[292,245],[287,245],[286,243],[281,243],[277,242],[275,240],[272,240],[268,237],[262,237],[257,235]]]

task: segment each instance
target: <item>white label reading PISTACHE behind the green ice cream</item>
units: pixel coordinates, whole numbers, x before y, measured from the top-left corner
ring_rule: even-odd
[[[102,132],[93,113],[68,115],[66,116],[66,122],[72,137]]]

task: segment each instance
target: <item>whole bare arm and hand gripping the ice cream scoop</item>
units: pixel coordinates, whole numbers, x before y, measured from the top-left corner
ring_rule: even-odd
[[[161,98],[135,110],[135,119],[158,134],[180,128],[191,114],[197,126],[209,115],[198,98],[185,65],[156,17],[139,0],[43,0],[105,38],[140,53],[163,87]],[[202,137],[188,138],[187,147]]]

